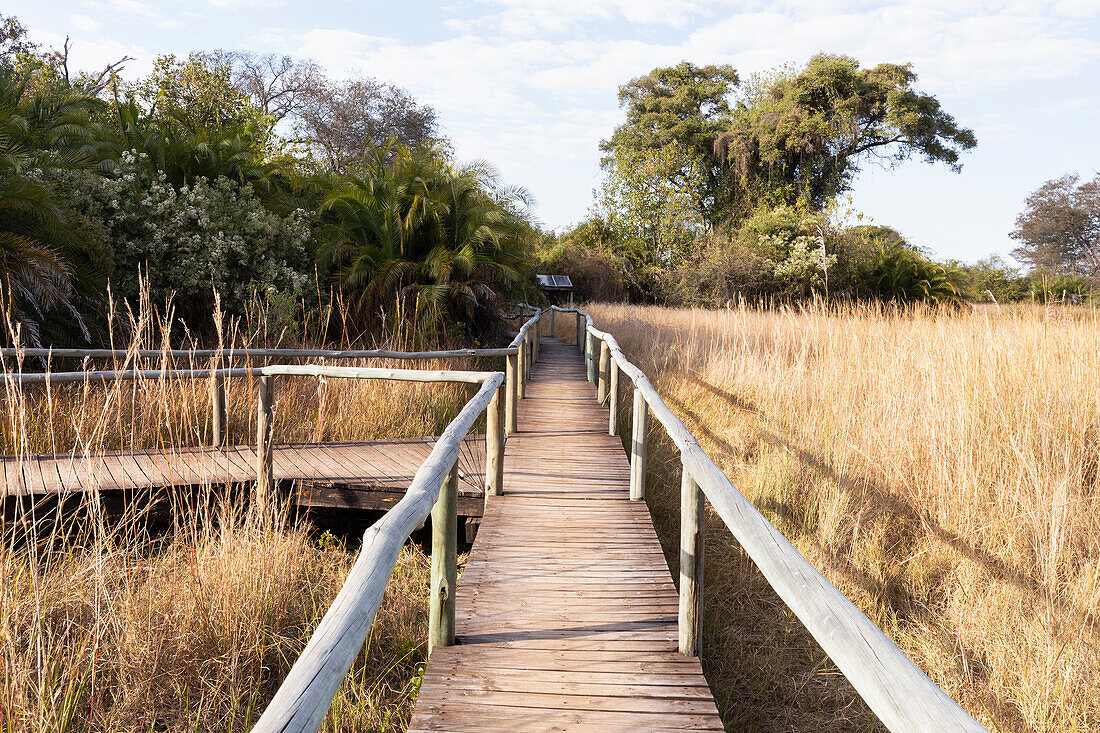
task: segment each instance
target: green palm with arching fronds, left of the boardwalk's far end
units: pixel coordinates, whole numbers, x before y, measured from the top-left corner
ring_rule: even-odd
[[[320,262],[361,328],[382,313],[421,332],[485,325],[528,259],[528,201],[484,162],[459,167],[391,142],[322,204]]]

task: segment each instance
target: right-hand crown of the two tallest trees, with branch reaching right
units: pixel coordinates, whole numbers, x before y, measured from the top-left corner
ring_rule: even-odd
[[[909,64],[865,69],[828,54],[756,78],[715,141],[736,210],[799,200],[820,209],[851,187],[867,161],[897,165],[916,155],[960,171],[974,132],[915,84]]]

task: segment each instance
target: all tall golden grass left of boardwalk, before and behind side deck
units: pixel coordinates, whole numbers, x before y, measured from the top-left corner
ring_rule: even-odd
[[[140,318],[129,330],[131,355],[100,366],[160,368],[133,354],[167,343],[167,322]],[[250,343],[255,339],[234,331],[222,347]],[[177,364],[186,366],[209,362]],[[209,444],[210,380],[47,390],[12,379],[41,363],[7,360],[3,369],[3,453],[84,460],[120,448]],[[438,435],[468,396],[459,385],[279,378],[274,437]],[[254,441],[250,379],[230,382],[228,407],[230,441]],[[205,492],[201,501],[173,503],[169,528],[155,533],[140,511],[107,515],[94,494],[59,519],[23,513],[0,522],[0,731],[251,727],[343,583],[354,548],[277,510],[234,503],[212,486]],[[409,547],[323,730],[405,726],[426,657],[427,584],[427,560]]]

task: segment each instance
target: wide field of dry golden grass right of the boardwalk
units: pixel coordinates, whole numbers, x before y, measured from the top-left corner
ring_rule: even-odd
[[[591,313],[734,483],[975,716],[1100,729],[1094,311]],[[671,549],[679,464],[657,444],[650,506]],[[727,726],[877,725],[713,514],[707,543],[704,664]]]

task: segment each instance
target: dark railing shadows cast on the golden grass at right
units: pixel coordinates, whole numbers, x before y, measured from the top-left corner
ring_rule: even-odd
[[[750,413],[761,420],[776,425],[779,430],[783,429],[781,423],[762,413],[751,402],[721,390],[697,376],[689,375],[688,380],[719,397],[736,409]],[[705,438],[730,457],[744,452],[718,436],[706,425],[706,422],[698,414],[682,401],[669,397],[666,397],[666,401],[679,415],[690,420],[692,430],[697,431],[700,437]],[[774,429],[759,429],[758,437],[769,446],[793,456],[800,466],[806,470],[807,478],[827,479],[834,482],[837,488],[848,493],[856,501],[866,516],[888,518],[890,532],[897,538],[898,543],[912,541],[913,538],[922,534],[927,537],[934,537],[968,560],[980,565],[991,576],[1012,583],[1016,588],[1032,594],[1036,600],[1058,608],[1063,614],[1072,614],[1074,619],[1084,620],[1086,623],[1082,624],[1082,628],[1094,628],[1094,624],[1091,623],[1093,619],[1092,614],[1087,609],[1078,608],[1058,599],[1047,586],[1027,576],[1003,559],[977,547],[957,533],[947,529],[926,512],[914,507],[903,499],[892,494],[887,486],[850,475],[829,461],[794,444]],[[913,598],[911,591],[905,588],[902,576],[883,580],[856,567],[849,558],[837,553],[834,548],[823,546],[813,529],[807,527],[806,523],[800,518],[803,512],[790,501],[768,499],[761,501],[758,504],[758,508],[779,517],[784,525],[784,534],[788,534],[791,539],[812,543],[817,557],[827,566],[829,571],[837,573],[854,587],[862,590],[873,602],[881,603],[890,614],[903,622],[906,619],[915,620],[927,614],[927,611],[924,609],[925,604],[921,600]],[[733,575],[734,577],[728,580],[735,589],[745,590],[747,586],[749,594],[756,595],[756,602],[763,606],[763,609],[758,609],[758,611],[765,610],[766,613],[770,612],[770,617],[768,615],[758,615],[756,617],[738,619],[737,615],[739,614],[732,617],[729,614],[723,614],[725,609],[722,606],[725,599],[711,598],[707,594],[706,606],[710,612],[707,615],[711,616],[707,620],[707,625],[711,635],[718,638],[728,636],[730,626],[736,628],[737,633],[745,633],[747,625],[755,625],[756,628],[749,630],[748,633],[750,634],[767,634],[769,633],[767,630],[768,625],[785,626],[784,632],[788,634],[789,643],[792,645],[789,654],[785,656],[778,655],[781,657],[780,659],[767,659],[761,658],[759,649],[751,649],[749,650],[750,658],[738,659],[738,661],[755,667],[755,669],[750,668],[749,674],[757,676],[756,683],[762,687],[763,690],[770,690],[774,693],[777,691],[774,689],[777,679],[785,674],[788,676],[803,676],[804,681],[800,687],[800,691],[803,694],[814,696],[814,688],[810,685],[814,675],[828,677],[835,670],[835,675],[839,676],[839,670],[836,670],[832,666],[832,663],[827,660],[824,653],[816,645],[816,642],[813,641],[809,632],[801,627],[800,622],[794,619],[782,600],[774,594],[774,591],[759,576],[759,572],[756,572],[754,576],[751,571],[747,572],[744,568],[739,567],[746,562],[751,565],[751,560],[744,554],[744,550],[739,549],[736,540],[728,534],[725,526],[721,526],[718,529],[718,533],[707,533],[708,551],[716,544],[719,548],[725,545],[732,545],[737,548],[740,557],[733,558],[728,557],[729,553],[723,553],[726,556],[723,558],[725,562],[717,564],[714,567],[714,572],[727,576]],[[712,560],[712,557],[707,558],[708,573],[712,572],[712,566],[715,566]],[[733,561],[733,565],[729,565],[729,561]],[[755,566],[752,568],[755,569]],[[754,577],[750,578],[749,576]],[[711,577],[714,576],[712,575]],[[926,619],[922,619],[922,621],[926,621]],[[793,624],[798,624],[799,628],[791,627],[792,622]],[[971,680],[975,692],[981,698],[981,704],[986,705],[987,711],[994,721],[1008,730],[1034,730],[1033,726],[1027,725],[1023,720],[1020,709],[1014,703],[989,690],[989,685],[987,683],[989,669],[982,653],[978,649],[961,647],[961,643],[957,637],[953,641],[961,653],[957,664],[966,664],[966,670],[960,669],[960,672],[965,674]],[[708,667],[721,668],[729,664],[727,659],[715,658],[715,650],[710,650],[711,654],[707,654],[707,649],[704,649],[704,660],[708,663]],[[738,650],[734,649],[734,653],[738,654]],[[706,657],[711,658],[707,659]],[[778,669],[776,668],[777,666],[779,667]],[[806,672],[807,667],[812,667],[809,672]],[[835,681],[828,683],[832,683],[834,688],[838,687]],[[834,689],[832,692],[826,692],[824,688],[828,687],[828,683],[822,686],[823,689],[817,691],[816,700],[812,700],[809,703],[798,701],[795,703],[796,707],[809,704],[815,711],[823,712],[827,711],[831,707],[842,703],[845,698],[849,698],[847,704],[840,709],[836,709],[837,721],[829,724],[831,730],[869,730],[869,727],[882,730],[881,724],[877,722],[873,714],[866,708],[866,704],[859,700],[850,685],[845,681],[839,685],[839,690]],[[746,694],[746,692],[749,693]],[[729,730],[799,730],[798,727],[784,726],[782,723],[773,725],[767,722],[761,723],[760,721],[748,726],[743,724],[754,718],[755,707],[759,704],[759,701],[755,700],[755,698],[761,694],[762,691],[751,692],[750,690],[733,689],[727,691],[725,696],[721,696],[717,690],[716,693],[719,694],[719,707],[723,708],[723,719],[726,721],[727,729]],[[779,698],[781,699],[782,696],[779,696]],[[773,699],[769,702],[776,703],[777,701]],[[746,709],[747,705],[750,708]],[[785,716],[783,713],[780,713],[780,715]]]

